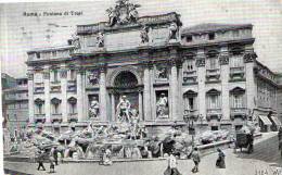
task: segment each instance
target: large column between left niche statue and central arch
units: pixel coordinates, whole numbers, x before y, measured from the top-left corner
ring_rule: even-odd
[[[100,118],[101,121],[106,121],[106,74],[105,65],[100,67],[100,82],[99,82],[99,101],[100,101]]]

